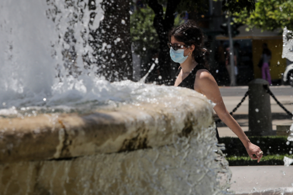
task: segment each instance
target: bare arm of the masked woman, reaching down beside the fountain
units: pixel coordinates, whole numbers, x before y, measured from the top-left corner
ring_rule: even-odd
[[[226,106],[223,102],[219,87],[215,79],[207,70],[197,71],[194,90],[205,95],[208,99],[212,100],[216,105],[214,110],[219,116],[219,118],[232,130],[234,134],[242,141],[247,153],[252,159],[258,159],[257,162],[262,158],[261,149],[252,144],[249,138],[245,135],[236,120],[229,114]],[[253,154],[256,156],[254,157]]]

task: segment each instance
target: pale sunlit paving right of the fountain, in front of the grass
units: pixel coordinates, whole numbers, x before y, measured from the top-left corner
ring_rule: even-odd
[[[293,194],[293,166],[234,166],[230,170],[230,191],[236,195]]]

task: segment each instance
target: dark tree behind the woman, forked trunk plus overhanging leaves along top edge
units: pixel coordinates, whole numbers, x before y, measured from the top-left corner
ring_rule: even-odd
[[[159,39],[159,63],[157,69],[162,79],[158,83],[168,84],[170,80],[170,57],[167,47],[169,30],[174,26],[175,12],[183,13],[205,11],[208,7],[207,0],[145,0],[145,3],[154,11],[153,26]],[[164,6],[166,11],[164,11]],[[246,8],[248,11],[254,9],[254,0],[223,0],[223,10],[240,12]]]

